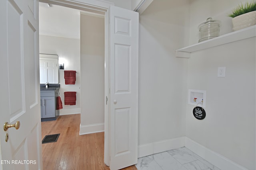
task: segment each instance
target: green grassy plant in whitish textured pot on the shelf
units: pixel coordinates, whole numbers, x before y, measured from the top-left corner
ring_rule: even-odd
[[[256,25],[256,0],[238,5],[228,16],[232,17],[233,31]]]

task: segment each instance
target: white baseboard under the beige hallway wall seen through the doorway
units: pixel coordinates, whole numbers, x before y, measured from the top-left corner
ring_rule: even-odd
[[[79,135],[86,135],[90,133],[104,132],[104,123],[97,123],[91,125],[81,125]]]

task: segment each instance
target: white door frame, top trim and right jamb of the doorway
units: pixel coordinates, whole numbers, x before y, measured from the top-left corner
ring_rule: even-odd
[[[114,6],[114,3],[106,2],[102,0],[39,0],[40,2],[54,4],[59,6],[65,6],[68,8],[74,8],[78,10],[93,12],[96,14],[102,14],[105,16],[104,25],[105,25],[105,96],[109,96],[109,84],[108,84],[108,59],[109,59],[109,50],[108,50],[108,8]],[[109,166],[109,105],[106,105],[106,97],[104,99],[104,163]]]

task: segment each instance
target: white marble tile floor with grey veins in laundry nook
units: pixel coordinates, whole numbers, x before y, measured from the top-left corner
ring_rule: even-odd
[[[186,147],[138,158],[138,170],[220,170]]]

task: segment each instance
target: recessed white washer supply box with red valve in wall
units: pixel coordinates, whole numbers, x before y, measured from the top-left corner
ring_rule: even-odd
[[[206,90],[188,89],[188,104],[202,106],[202,101],[203,107],[206,107]]]

